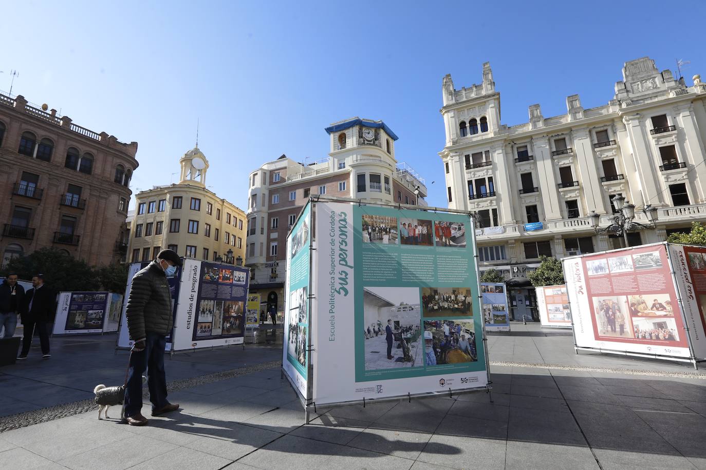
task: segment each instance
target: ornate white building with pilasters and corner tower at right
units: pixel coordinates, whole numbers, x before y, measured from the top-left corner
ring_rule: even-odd
[[[561,258],[625,245],[623,236],[597,235],[621,194],[641,212],[659,208],[657,229],[628,234],[630,245],[659,242],[706,219],[706,84],[688,86],[650,58],[625,63],[607,104],[585,109],[578,94],[566,114],[545,118],[539,104],[529,122],[501,123],[500,93],[489,63],[480,85],[442,83],[448,206],[478,215],[481,271],[493,267],[510,285],[515,318],[535,314],[527,270],[539,256]]]

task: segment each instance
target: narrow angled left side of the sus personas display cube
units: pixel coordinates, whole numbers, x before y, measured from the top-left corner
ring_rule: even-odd
[[[287,297],[285,300],[282,369],[305,400],[309,400],[309,289],[311,263],[311,204],[307,204],[287,237]],[[327,270],[328,272],[328,270]]]

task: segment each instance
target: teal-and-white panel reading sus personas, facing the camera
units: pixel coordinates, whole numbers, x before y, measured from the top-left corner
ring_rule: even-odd
[[[314,402],[485,387],[472,219],[315,207]]]

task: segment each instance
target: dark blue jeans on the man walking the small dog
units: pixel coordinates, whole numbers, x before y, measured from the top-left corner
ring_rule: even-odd
[[[125,416],[135,416],[142,409],[142,376],[148,371],[152,411],[167,406],[167,377],[164,375],[164,343],[166,337],[147,332],[145,349],[132,352],[128,383],[125,388]]]

